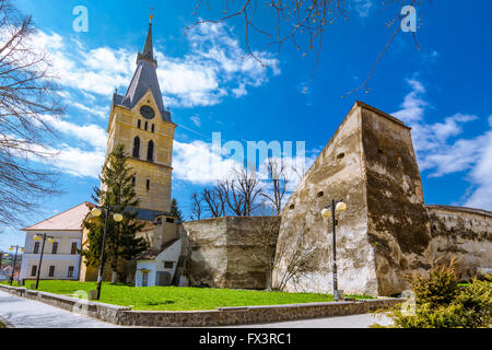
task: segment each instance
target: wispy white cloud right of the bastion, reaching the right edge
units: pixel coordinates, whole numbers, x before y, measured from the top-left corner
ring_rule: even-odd
[[[475,115],[460,113],[442,122],[426,122],[425,89],[417,80],[407,82],[412,90],[405,97],[401,109],[393,115],[412,128],[420,170],[430,171],[430,177],[465,172],[473,190],[464,205],[492,210],[492,130],[470,139],[459,138],[462,126],[478,119]],[[492,128],[492,117],[488,121]]]

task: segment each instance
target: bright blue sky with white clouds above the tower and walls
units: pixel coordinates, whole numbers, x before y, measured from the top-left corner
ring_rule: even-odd
[[[211,1],[221,9],[224,1]],[[212,132],[222,140],[305,141],[312,161],[328,142],[355,100],[390,113],[412,127],[426,203],[492,210],[492,3],[424,2],[418,28],[419,51],[410,33],[399,33],[383,57],[368,93],[345,98],[366,78],[393,34],[385,23],[397,8],[376,0],[349,1],[349,21],[327,27],[320,61],[307,92],[315,56],[291,45],[261,54],[262,69],[246,52],[244,22],[200,26],[187,36],[192,1],[17,0],[39,28],[35,44],[50,52],[69,106],[55,149],[59,159],[45,166],[60,172],[65,194],[44,202],[27,222],[90,200],[105,152],[110,96],[126,91],[142,49],[149,9],[165,104],[176,129],[173,197],[188,219],[190,195],[207,182],[197,158]],[[89,10],[89,32],[75,33],[72,10]],[[214,12],[210,15],[213,16]],[[209,13],[200,12],[203,18]],[[260,24],[263,19],[260,18]],[[266,22],[265,22],[266,23]],[[263,23],[263,24],[265,24]],[[254,49],[262,47],[251,38]],[[23,244],[20,228],[4,230],[0,247]]]

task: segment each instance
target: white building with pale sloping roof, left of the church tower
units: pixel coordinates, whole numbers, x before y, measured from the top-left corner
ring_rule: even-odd
[[[83,202],[62,213],[23,229],[25,252],[21,280],[79,280],[82,223],[92,205]],[[46,235],[46,240],[44,236]],[[43,249],[43,241],[44,249]],[[39,261],[43,250],[43,259]]]

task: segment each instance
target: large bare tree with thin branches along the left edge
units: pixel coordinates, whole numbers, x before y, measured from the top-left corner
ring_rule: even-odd
[[[46,54],[33,44],[31,16],[0,0],[0,224],[23,224],[40,198],[57,192],[54,173],[35,161],[55,155],[48,118],[63,114]]]

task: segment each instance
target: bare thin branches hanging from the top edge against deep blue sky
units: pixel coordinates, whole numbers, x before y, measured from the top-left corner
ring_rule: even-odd
[[[348,94],[363,88],[367,89],[367,82],[373,75],[382,56],[387,50],[396,34],[400,31],[398,20],[403,19],[400,14],[401,7],[403,4],[410,4],[420,11],[422,8],[422,0],[411,0],[410,3],[403,3],[401,0],[380,0],[379,3],[384,9],[394,7],[393,11],[395,11],[395,15],[386,23],[386,25],[388,27],[396,25],[396,31],[377,58],[367,79],[359,88]],[[277,47],[280,52],[284,43],[291,43],[303,57],[306,56],[307,52],[315,50],[315,65],[311,79],[305,88],[307,89],[313,81],[319,62],[324,34],[327,26],[330,24],[332,25],[339,19],[349,20],[350,12],[355,5],[355,2],[351,3],[351,1],[343,0],[267,0],[263,2],[257,0],[224,0],[223,5],[220,5],[221,14],[219,15],[219,19],[202,20],[202,8],[206,7],[209,11],[212,11],[212,9],[208,0],[196,0],[194,15],[200,15],[200,18],[192,26],[187,27],[187,31],[203,23],[221,23],[233,19],[241,19],[244,22],[247,55],[251,56],[263,67],[266,65],[261,60],[260,54],[270,47]],[[272,20],[265,21],[265,19],[268,18]],[[259,24],[260,21],[261,24]],[[254,34],[265,42],[263,46],[258,50],[253,49],[250,46]],[[420,46],[417,43],[415,33],[412,33],[412,35],[417,47],[420,49]]]

